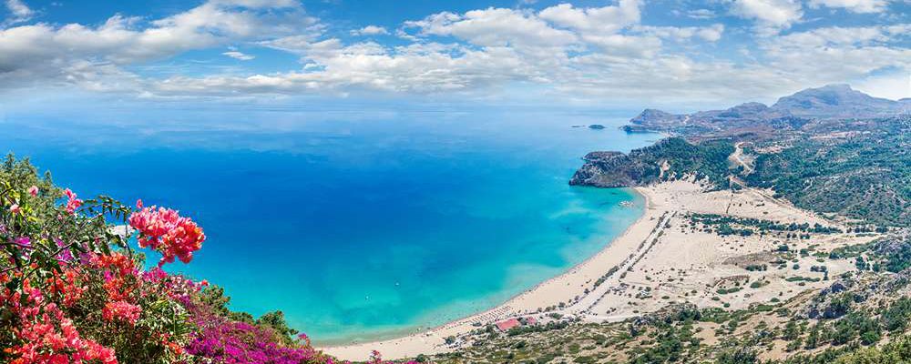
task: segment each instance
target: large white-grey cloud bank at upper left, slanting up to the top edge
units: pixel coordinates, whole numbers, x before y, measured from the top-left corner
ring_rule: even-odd
[[[138,17],[115,15],[97,26],[0,29],[0,87],[81,84],[89,79],[100,83],[95,76],[84,76],[92,65],[97,75],[119,75],[112,69],[226,43],[318,32],[321,26],[290,0],[212,0],[153,20],[145,28],[140,24]]]

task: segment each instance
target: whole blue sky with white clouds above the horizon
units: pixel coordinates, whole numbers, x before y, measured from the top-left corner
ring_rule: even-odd
[[[911,97],[911,0],[0,2],[0,112]]]

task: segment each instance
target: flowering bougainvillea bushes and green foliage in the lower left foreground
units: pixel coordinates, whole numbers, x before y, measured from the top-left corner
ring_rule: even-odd
[[[130,247],[158,251],[157,268]],[[80,199],[27,160],[0,166],[0,362],[331,364],[281,311],[232,312],[221,288],[161,269],[206,240],[164,207]],[[374,352],[372,363],[389,363]]]

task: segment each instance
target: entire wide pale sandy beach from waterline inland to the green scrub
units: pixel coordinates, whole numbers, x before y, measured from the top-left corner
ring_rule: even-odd
[[[455,320],[435,329],[407,337],[377,342],[322,348],[340,359],[367,359],[371,350],[384,358],[411,358],[442,353],[470,345],[471,332],[504,319],[534,317],[553,319],[551,313],[589,322],[629,319],[666,307],[672,302],[691,302],[701,307],[745,308],[770,299],[786,299],[825,281],[792,281],[786,278],[813,276],[810,255],[794,258],[788,268],[748,271],[746,265],[763,261],[764,253],[782,244],[794,249],[835,247],[869,241],[873,237],[850,234],[814,235],[812,238],[782,234],[750,237],[719,236],[691,226],[690,213],[752,217],[781,223],[821,224],[832,221],[773,198],[773,192],[744,188],[739,191],[705,191],[693,181],[666,182],[636,187],[645,198],[643,215],[598,254],[550,278],[504,304]],[[613,269],[612,269],[613,268]],[[829,274],[850,270],[851,264],[828,264]],[[804,272],[805,271],[805,272]],[[608,275],[609,272],[612,274]],[[601,279],[600,284],[596,282]],[[742,285],[759,282],[741,290]],[[757,284],[754,283],[753,286]],[[736,290],[731,289],[737,287]],[[733,290],[732,293],[727,293]],[[719,295],[718,292],[725,292]],[[723,297],[719,297],[723,296]],[[447,343],[445,338],[451,338]]]

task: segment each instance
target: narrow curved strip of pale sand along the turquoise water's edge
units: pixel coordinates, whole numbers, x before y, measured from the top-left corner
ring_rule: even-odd
[[[663,210],[655,209],[654,197],[650,196],[651,192],[647,187],[631,187],[630,190],[643,199],[640,217],[616,238],[611,239],[604,248],[562,274],[548,278],[493,308],[432,329],[424,329],[394,339],[330,345],[319,349],[339,359],[348,360],[369,359],[372,350],[378,350],[386,358],[409,358],[420,354],[443,353],[456,349],[454,345],[446,344],[447,337],[465,335],[501,319],[544,315],[544,308],[558,306],[561,303],[566,307],[560,310],[575,306],[582,299],[574,298],[588,296],[586,288],[592,286],[592,282],[604,276],[611,267],[626,262],[634,254],[641,243],[649,238],[655,225],[654,220],[663,213]]]

